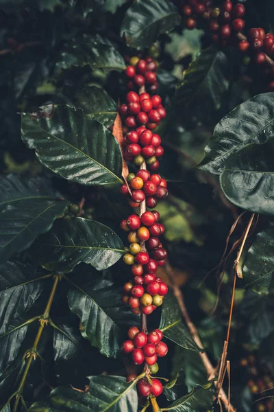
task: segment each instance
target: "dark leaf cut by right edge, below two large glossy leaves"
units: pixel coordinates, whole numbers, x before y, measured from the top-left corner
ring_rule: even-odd
[[[242,273],[247,288],[261,295],[272,294],[274,292],[273,271],[274,222],[268,222],[256,235],[245,258]]]

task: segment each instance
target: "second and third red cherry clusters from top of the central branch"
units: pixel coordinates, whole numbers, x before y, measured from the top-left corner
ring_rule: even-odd
[[[150,170],[159,168],[158,158],[164,154],[161,138],[151,130],[155,129],[166,117],[159,95],[149,93],[138,95],[129,91],[127,102],[121,104],[119,112],[123,119],[123,155],[125,160],[141,165],[144,161]]]

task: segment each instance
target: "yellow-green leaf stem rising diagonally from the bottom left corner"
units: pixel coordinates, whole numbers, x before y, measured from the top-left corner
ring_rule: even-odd
[[[60,275],[60,274],[55,274],[55,275],[53,275],[54,281],[53,281],[53,286],[52,286],[52,288],[51,288],[51,293],[50,293],[50,295],[49,295],[49,299],[48,299],[48,301],[47,301],[47,306],[46,306],[46,308],[45,308],[44,313],[42,314],[42,317],[40,317],[40,319],[39,319],[39,321],[40,321],[40,326],[39,326],[38,332],[37,332],[37,334],[36,334],[36,338],[35,338],[35,340],[34,340],[34,344],[33,344],[33,346],[32,346],[32,350],[30,350],[29,352],[27,352],[27,358],[28,358],[28,360],[27,360],[27,365],[25,366],[25,370],[24,370],[23,376],[22,376],[22,378],[21,378],[21,381],[20,381],[20,383],[19,383],[18,389],[17,389],[17,391],[16,391],[16,398],[15,398],[15,402],[14,402],[14,407],[13,407],[13,409],[12,409],[13,412],[16,412],[16,411],[17,411],[18,404],[19,404],[19,401],[20,401],[21,398],[22,398],[23,390],[24,390],[24,387],[25,387],[25,381],[26,381],[27,375],[28,375],[28,373],[29,373],[29,368],[30,368],[31,365],[32,365],[32,360],[33,360],[33,359],[34,359],[34,360],[36,359],[36,353],[37,353],[38,343],[39,343],[40,338],[41,338],[41,336],[42,336],[42,331],[44,330],[45,325],[47,325],[47,323],[49,322],[49,312],[50,312],[50,310],[51,310],[51,305],[52,305],[52,302],[53,302],[53,298],[54,298],[54,296],[55,296],[56,288],[57,288],[57,286],[58,286],[58,282],[59,282],[60,279],[61,279],[61,276],[62,276],[62,275]]]

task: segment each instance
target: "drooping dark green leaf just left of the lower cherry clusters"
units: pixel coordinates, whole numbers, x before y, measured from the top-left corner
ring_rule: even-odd
[[[69,291],[69,307],[80,319],[82,336],[101,354],[116,357],[125,327],[134,325],[138,317],[123,305],[121,288],[104,281],[100,275],[89,273],[84,281],[83,276],[77,275],[75,282],[70,281],[74,288]]]

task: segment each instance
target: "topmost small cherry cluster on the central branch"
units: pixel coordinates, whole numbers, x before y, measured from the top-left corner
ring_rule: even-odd
[[[151,56],[145,58],[125,56],[125,61],[129,63],[125,69],[127,89],[137,91],[140,87],[145,86],[147,91],[155,93],[158,89],[156,75],[158,63]]]

